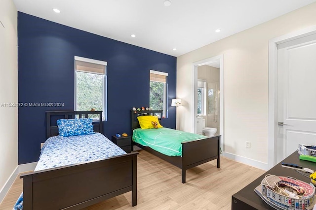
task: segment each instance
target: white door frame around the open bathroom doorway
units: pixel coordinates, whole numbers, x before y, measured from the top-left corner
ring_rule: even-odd
[[[223,55],[219,55],[219,56],[215,56],[212,58],[208,58],[208,59],[204,59],[204,60],[200,60],[197,62],[193,63],[193,84],[194,84],[194,97],[193,97],[193,102],[192,104],[194,104],[192,113],[193,113],[193,127],[194,127],[194,133],[197,133],[197,67],[201,66],[201,65],[205,65],[205,64],[209,64],[212,62],[216,62],[219,61],[219,81],[220,81],[220,85],[219,85],[219,135],[221,135],[221,148],[222,150],[224,150],[224,56]]]

